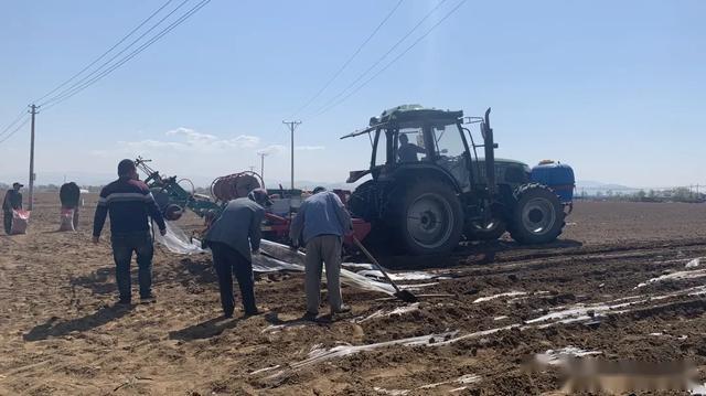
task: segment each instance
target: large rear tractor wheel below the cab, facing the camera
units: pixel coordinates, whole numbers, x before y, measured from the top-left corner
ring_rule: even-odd
[[[399,193],[391,228],[402,247],[414,255],[443,254],[458,246],[463,211],[456,192],[446,183],[418,180]]]

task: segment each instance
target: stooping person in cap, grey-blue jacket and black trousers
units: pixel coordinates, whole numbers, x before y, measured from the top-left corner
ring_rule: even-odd
[[[234,274],[240,289],[245,317],[258,314],[255,304],[253,253],[258,253],[260,248],[260,225],[265,217],[263,206],[269,205],[271,201],[267,191],[255,189],[247,197],[229,201],[204,236],[204,245],[213,254],[225,318],[233,318],[235,310]]]

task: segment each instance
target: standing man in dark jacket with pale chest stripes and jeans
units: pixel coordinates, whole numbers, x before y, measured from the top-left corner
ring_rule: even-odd
[[[135,162],[122,160],[118,164],[119,179],[100,191],[93,225],[93,242],[97,244],[100,231],[110,215],[110,243],[116,265],[116,280],[120,292],[120,304],[131,303],[130,261],[132,251],[137,254],[139,268],[140,299],[153,302],[152,295],[152,236],[150,235],[151,217],[159,226],[161,235],[167,234],[167,225],[154,202],[150,189],[138,180]]]

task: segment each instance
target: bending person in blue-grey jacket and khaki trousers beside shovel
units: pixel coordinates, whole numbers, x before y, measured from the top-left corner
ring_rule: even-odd
[[[343,236],[352,229],[351,215],[341,199],[324,188],[315,188],[313,195],[302,202],[291,223],[289,237],[292,247],[299,246],[300,237],[307,247],[304,263],[304,292],[307,295],[306,320],[319,314],[321,270],[325,264],[327,290],[331,313],[349,312],[341,297],[341,247]]]

